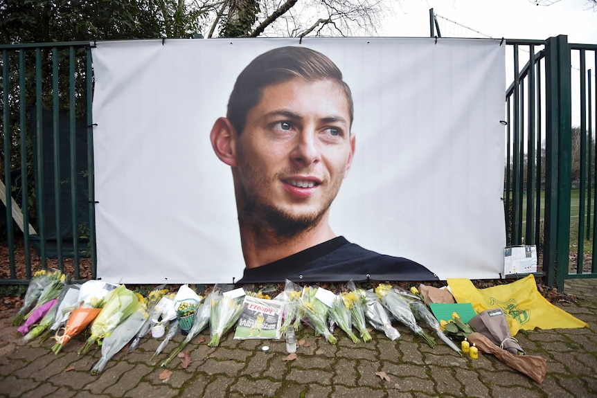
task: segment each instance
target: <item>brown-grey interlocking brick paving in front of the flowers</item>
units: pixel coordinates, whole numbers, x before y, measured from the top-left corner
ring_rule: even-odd
[[[516,336],[526,353],[547,361],[547,376],[535,383],[493,356],[478,360],[460,357],[438,342],[430,348],[400,325],[398,341],[373,331],[373,341],[357,345],[337,330],[337,345],[316,338],[304,328],[294,361],[283,361],[283,341],[236,341],[228,334],[220,347],[207,347],[199,338],[187,346],[193,362],[182,368],[175,359],[159,363],[176,343],[171,342],[154,361],[159,341],[146,337],[136,352],[125,350],[109,361],[104,372],[89,370],[100,350],[77,356],[82,340],[74,339],[55,355],[53,342],[23,345],[15,311],[0,312],[1,397],[597,397],[597,280],[566,282],[565,291],[578,296],[573,303],[555,303],[584,320],[584,329],[537,329]],[[181,341],[178,335],[175,342]],[[270,350],[263,352],[263,345]],[[389,380],[377,376],[385,372]]]

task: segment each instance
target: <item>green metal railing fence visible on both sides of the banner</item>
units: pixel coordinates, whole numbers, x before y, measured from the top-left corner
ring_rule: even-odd
[[[431,36],[440,37],[430,15]],[[597,276],[597,46],[569,44],[566,36],[504,43],[512,80],[504,115],[507,242],[536,244],[537,275],[562,289],[566,278]],[[91,46],[0,50],[0,174],[8,198],[0,238],[10,255],[0,284],[27,283],[48,266],[95,278]],[[17,247],[25,249],[18,261]]]

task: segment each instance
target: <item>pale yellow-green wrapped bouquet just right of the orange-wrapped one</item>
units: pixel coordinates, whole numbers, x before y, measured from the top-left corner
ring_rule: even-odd
[[[93,343],[101,344],[101,340],[114,331],[126,318],[139,309],[139,297],[121,284],[106,296],[105,305],[91,324],[91,336],[78,354],[85,354]]]

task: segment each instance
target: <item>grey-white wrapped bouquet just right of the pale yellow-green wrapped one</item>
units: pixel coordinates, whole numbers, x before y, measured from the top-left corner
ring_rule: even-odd
[[[116,326],[112,334],[103,339],[102,357],[91,368],[91,374],[103,372],[108,361],[136,336],[147,318],[148,313],[145,311],[145,307],[139,306],[131,316]]]

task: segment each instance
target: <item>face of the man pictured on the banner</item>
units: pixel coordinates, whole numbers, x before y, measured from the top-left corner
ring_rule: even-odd
[[[316,225],[350,168],[350,123],[346,94],[332,80],[266,87],[235,145],[239,217],[283,235]]]

